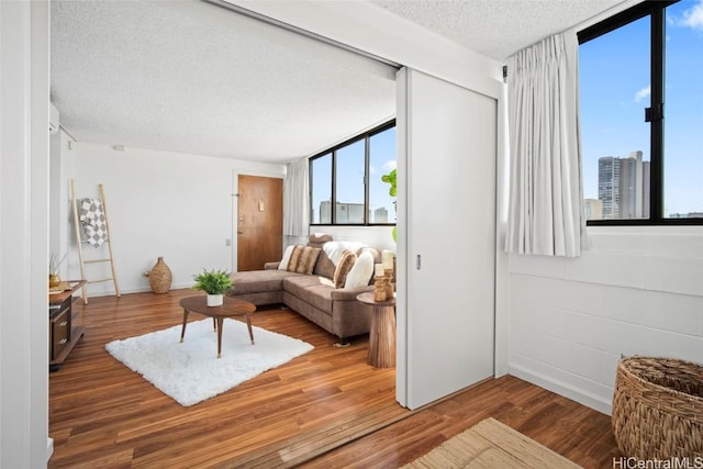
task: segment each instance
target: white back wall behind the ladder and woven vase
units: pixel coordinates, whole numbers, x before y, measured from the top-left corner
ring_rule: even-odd
[[[148,278],[157,257],[171,269],[171,288],[193,284],[192,276],[203,268],[236,267],[236,212],[238,174],[280,177],[284,165],[156,152],[140,148],[115,150],[110,145],[63,142],[62,158],[66,210],[59,231],[62,252],[70,250],[62,276],[79,277],[78,254],[70,208],[69,181],[76,180],[78,198],[105,192],[118,281],[123,293],[149,291]],[[62,210],[64,210],[62,209]],[[232,239],[232,246],[226,241]],[[83,244],[85,258],[104,258],[105,247]],[[109,277],[107,263],[88,266],[89,279]],[[88,287],[88,294],[114,294],[112,282]]]

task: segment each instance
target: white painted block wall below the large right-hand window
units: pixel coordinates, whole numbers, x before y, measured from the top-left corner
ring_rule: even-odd
[[[589,237],[578,259],[510,256],[510,372],[610,414],[621,354],[703,362],[703,226]]]

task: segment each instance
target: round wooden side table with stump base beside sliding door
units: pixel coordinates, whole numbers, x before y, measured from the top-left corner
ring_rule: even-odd
[[[368,364],[376,368],[393,368],[395,366],[395,298],[373,301],[373,292],[367,291],[358,294],[356,299],[373,306]]]

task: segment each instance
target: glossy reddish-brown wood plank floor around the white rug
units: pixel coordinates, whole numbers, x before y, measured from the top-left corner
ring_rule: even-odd
[[[198,292],[75,303],[87,332],[49,375],[49,468],[395,468],[488,416],[585,468],[610,468],[618,455],[606,415],[513,377],[408,411],[395,403],[394,370],[366,364],[367,337],[337,348],[334,336],[277,308],[257,312],[254,325],[315,349],[183,407],[104,345],[178,325],[178,300],[191,294]]]

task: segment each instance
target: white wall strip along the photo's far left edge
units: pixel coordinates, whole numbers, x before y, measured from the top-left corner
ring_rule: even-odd
[[[47,1],[0,2],[0,467],[46,467]]]

